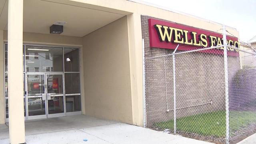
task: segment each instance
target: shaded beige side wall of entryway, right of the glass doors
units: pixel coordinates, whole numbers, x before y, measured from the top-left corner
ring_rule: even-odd
[[[127,17],[83,38],[86,115],[132,124]]]

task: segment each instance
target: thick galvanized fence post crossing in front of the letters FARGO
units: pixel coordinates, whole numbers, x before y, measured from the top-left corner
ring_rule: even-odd
[[[226,144],[230,142],[229,134],[229,98],[228,98],[228,52],[226,42],[226,26],[223,25],[223,45],[224,45],[224,73],[225,73],[225,105],[226,105]]]

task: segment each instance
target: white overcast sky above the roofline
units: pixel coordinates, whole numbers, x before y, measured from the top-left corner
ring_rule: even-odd
[[[141,0],[236,28],[240,40],[256,36],[256,0]],[[256,38],[250,42],[255,42]]]

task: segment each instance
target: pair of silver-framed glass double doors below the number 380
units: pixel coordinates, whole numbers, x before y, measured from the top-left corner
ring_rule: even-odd
[[[65,116],[62,73],[26,74],[28,120]]]

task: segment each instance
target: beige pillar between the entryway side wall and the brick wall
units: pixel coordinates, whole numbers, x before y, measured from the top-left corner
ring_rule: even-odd
[[[128,21],[130,78],[132,91],[132,121],[143,126],[143,66],[140,14],[130,14]]]

